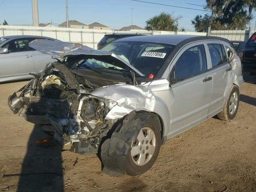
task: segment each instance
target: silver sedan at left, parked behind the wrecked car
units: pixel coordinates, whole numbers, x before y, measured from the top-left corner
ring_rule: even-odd
[[[36,73],[54,61],[51,56],[28,46],[35,39],[56,40],[28,35],[0,37],[0,82],[32,78],[29,73]]]

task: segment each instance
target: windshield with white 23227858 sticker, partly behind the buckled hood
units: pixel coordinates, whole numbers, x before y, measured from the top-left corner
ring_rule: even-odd
[[[174,45],[170,44],[129,41],[112,42],[102,48],[102,50],[114,52],[120,58],[138,69],[142,74],[149,76],[150,74],[156,75],[173,48]],[[84,64],[90,67],[114,67],[105,62],[95,62],[96,60],[89,59]]]

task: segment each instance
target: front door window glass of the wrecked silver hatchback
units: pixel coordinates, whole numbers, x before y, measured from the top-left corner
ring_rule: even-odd
[[[172,70],[172,79],[183,79],[207,70],[204,45],[197,45],[187,49],[180,56]]]

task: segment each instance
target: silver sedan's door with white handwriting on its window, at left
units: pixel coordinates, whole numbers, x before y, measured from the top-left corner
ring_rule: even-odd
[[[26,76],[35,72],[33,50],[28,46],[29,38],[19,38],[4,44],[8,53],[0,54],[0,78]]]

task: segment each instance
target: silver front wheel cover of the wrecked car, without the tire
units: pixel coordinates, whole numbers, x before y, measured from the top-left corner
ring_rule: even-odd
[[[156,148],[156,136],[149,127],[143,127],[136,141],[131,144],[131,158],[134,164],[143,166],[152,158]]]

